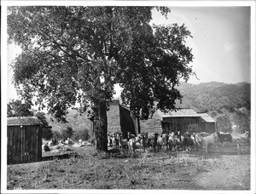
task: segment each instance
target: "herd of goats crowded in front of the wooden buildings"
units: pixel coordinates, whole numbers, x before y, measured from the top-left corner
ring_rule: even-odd
[[[137,149],[143,151],[199,151],[201,147],[208,146],[217,147],[224,145],[225,141],[236,141],[238,153],[241,152],[241,140],[248,139],[248,132],[239,135],[235,138],[230,133],[216,132],[208,134],[206,132],[191,133],[188,132],[180,134],[179,131],[171,133],[154,133],[148,134],[143,132],[135,136],[128,132],[127,138],[123,138],[122,133],[114,132],[108,133],[108,147],[116,148],[120,151],[135,152]]]

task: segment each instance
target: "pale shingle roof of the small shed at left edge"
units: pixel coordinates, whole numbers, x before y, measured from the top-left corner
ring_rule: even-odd
[[[40,125],[38,117],[7,117],[7,126]]]

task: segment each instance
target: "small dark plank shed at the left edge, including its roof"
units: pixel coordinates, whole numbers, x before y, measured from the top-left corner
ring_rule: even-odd
[[[38,117],[8,117],[7,163],[42,160],[42,127]]]

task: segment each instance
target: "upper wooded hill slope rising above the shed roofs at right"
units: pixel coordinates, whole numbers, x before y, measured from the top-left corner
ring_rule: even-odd
[[[183,95],[182,104],[177,100],[177,107],[191,108],[194,111],[234,110],[246,107],[250,110],[250,83],[181,83],[177,89]]]

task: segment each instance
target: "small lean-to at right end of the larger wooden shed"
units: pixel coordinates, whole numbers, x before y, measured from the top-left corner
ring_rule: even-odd
[[[213,134],[216,132],[216,122],[207,113],[197,113],[200,119],[200,131]]]

